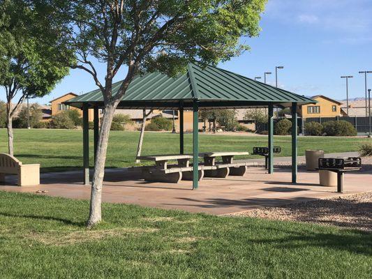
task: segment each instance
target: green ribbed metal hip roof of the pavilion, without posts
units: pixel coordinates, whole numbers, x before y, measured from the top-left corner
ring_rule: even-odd
[[[112,85],[112,93],[119,90],[121,82]],[[163,73],[138,75],[128,86],[118,108],[192,107],[198,100],[200,107],[260,107],[269,103],[288,106],[290,103],[317,103],[290,91],[263,84],[228,70],[189,64],[186,73],[168,77]],[[100,89],[91,91],[66,102],[74,107],[103,107]]]

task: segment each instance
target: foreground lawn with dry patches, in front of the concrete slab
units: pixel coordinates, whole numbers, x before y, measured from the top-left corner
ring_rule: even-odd
[[[0,191],[1,278],[371,278],[372,234]]]

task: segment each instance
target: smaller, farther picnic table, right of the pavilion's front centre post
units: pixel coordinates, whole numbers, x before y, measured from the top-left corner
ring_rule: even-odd
[[[249,155],[249,152],[204,152],[199,156],[204,158],[204,166],[213,167],[205,169],[205,177],[221,177],[228,175],[243,176],[246,173],[246,163],[234,163],[234,156]],[[221,157],[222,161],[216,158]]]

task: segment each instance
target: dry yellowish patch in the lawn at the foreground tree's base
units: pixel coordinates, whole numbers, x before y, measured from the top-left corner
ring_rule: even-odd
[[[124,228],[124,229],[101,229],[101,230],[82,230],[74,232],[45,232],[32,233],[25,236],[27,239],[39,241],[43,244],[52,246],[65,246],[86,241],[105,239],[113,236],[124,236],[128,234],[144,234],[156,232],[158,229]]]

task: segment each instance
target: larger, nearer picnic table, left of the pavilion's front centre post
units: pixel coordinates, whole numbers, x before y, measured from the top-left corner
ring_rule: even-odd
[[[192,155],[171,154],[171,155],[148,155],[138,156],[139,160],[151,160],[155,165],[140,167],[142,178],[148,181],[178,183],[181,179],[193,180],[193,166],[190,164]],[[177,164],[170,164],[170,161],[177,160]],[[198,166],[199,180],[204,176],[205,169],[212,169],[211,166]],[[138,167],[131,168],[133,170]]]

